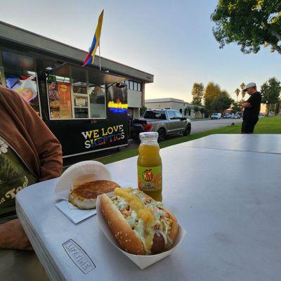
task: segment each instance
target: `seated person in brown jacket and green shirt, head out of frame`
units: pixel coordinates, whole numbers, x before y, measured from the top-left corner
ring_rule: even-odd
[[[3,86],[0,117],[0,248],[32,249],[15,216],[15,195],[28,185],[60,176],[62,150],[32,107]]]

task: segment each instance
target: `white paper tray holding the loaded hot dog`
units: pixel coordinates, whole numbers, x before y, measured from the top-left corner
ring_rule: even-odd
[[[107,193],[108,196],[112,195],[113,192]],[[115,239],[114,235],[112,234],[110,228],[107,225],[107,222],[105,221],[105,218],[103,217],[103,213],[100,209],[100,197],[101,195],[98,195],[97,201],[96,201],[96,211],[98,216],[98,223],[100,225],[100,229],[103,231],[105,236],[107,237],[110,242],[119,249],[119,251],[122,251],[122,253],[127,256],[133,263],[136,263],[136,265],[141,268],[147,268],[148,266],[151,266],[153,263],[156,263],[157,261],[160,261],[166,256],[169,256],[177,247],[178,245],[183,241],[183,238],[185,237],[186,231],[181,227],[178,226],[178,237],[176,237],[176,241],[174,243],[174,247],[169,249],[169,251],[164,251],[160,254],[154,254],[154,255],[148,255],[148,256],[141,256],[141,255],[134,255],[129,254],[126,251],[123,251],[117,240]]]

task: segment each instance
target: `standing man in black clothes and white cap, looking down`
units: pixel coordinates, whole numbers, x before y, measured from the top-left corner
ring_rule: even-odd
[[[256,91],[255,83],[247,84],[244,91],[247,91],[250,97],[245,103],[242,103],[244,112],[241,133],[254,133],[254,126],[259,121],[261,110],[261,93]]]

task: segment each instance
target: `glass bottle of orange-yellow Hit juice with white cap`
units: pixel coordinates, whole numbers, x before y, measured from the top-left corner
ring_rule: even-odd
[[[140,133],[141,144],[138,147],[138,188],[162,201],[162,160],[157,142],[158,133]]]

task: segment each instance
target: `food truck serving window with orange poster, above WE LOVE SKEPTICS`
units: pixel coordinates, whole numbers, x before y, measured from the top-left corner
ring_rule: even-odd
[[[83,80],[48,76],[50,119],[106,118],[105,86]]]

